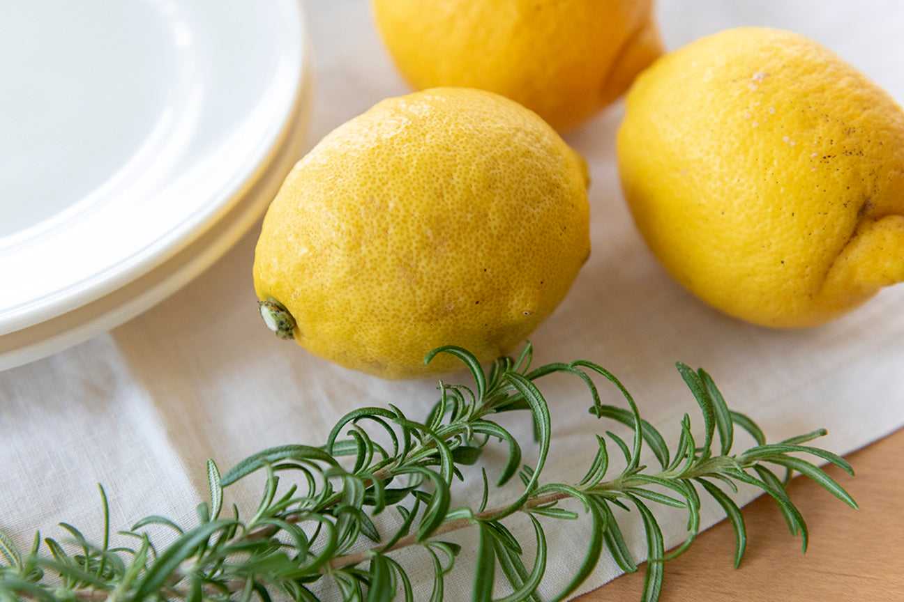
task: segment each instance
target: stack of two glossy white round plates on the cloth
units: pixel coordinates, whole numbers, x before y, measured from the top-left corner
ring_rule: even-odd
[[[298,0],[2,5],[0,369],[224,252],[297,159],[308,71]]]

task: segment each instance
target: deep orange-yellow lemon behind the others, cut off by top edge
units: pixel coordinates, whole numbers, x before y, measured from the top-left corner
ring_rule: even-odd
[[[559,131],[597,113],[662,53],[653,0],[372,0],[416,89],[482,88]]]

